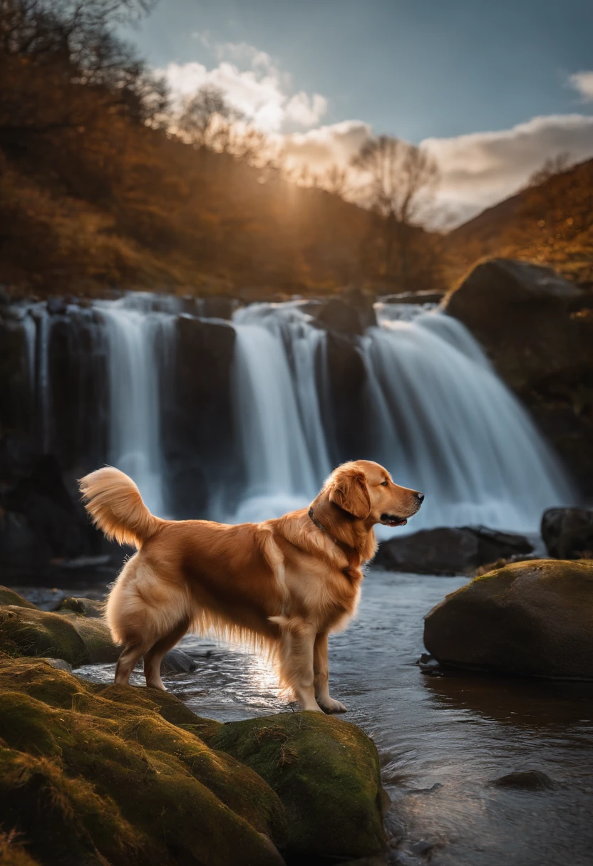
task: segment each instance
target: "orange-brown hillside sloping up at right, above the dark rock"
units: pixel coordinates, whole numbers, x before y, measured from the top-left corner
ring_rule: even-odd
[[[564,171],[544,169],[535,180],[453,229],[447,236],[450,255],[462,269],[485,256],[540,262],[590,285],[593,159]]]

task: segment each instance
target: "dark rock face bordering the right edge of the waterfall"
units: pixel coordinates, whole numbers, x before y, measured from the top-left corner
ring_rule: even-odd
[[[550,268],[482,262],[444,303],[479,339],[588,497],[593,495],[593,295]]]

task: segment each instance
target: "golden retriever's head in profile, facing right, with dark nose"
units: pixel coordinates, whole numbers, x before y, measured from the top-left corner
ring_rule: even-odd
[[[422,504],[424,494],[394,484],[387,469],[371,460],[342,463],[323,492],[343,511],[368,524],[402,527]]]

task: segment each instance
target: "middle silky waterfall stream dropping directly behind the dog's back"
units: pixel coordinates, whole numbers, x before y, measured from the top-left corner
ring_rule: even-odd
[[[319,335],[290,320],[290,310],[283,317],[273,310],[254,304],[235,315],[233,390],[248,486],[234,520],[302,507],[329,472],[315,386]]]

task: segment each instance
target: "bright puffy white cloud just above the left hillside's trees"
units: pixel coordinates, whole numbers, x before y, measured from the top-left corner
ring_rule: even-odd
[[[216,56],[218,65],[208,69],[199,62],[172,62],[157,70],[165,76],[174,99],[180,101],[205,84],[213,85],[264,132],[315,126],[326,113],[328,101],[321,94],[300,91],[290,96],[290,76],[265,51],[247,42],[212,42],[207,31],[193,36]]]

